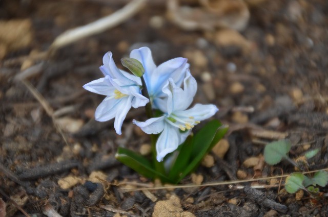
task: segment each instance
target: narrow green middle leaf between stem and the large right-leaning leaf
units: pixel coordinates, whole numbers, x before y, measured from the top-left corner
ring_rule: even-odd
[[[190,155],[192,152],[192,140],[193,136],[188,136],[186,141],[183,142],[177,150],[179,155],[177,156],[170,170],[169,179],[177,180],[179,178],[179,174],[181,174],[183,169],[186,168],[187,164],[189,163]]]

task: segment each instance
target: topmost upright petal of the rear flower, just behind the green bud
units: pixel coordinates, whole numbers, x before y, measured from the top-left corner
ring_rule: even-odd
[[[139,49],[135,49],[130,53],[130,58],[138,60],[142,66],[144,66],[144,78],[146,85],[147,87],[150,86],[150,78],[156,68],[150,49],[148,47],[140,47]]]

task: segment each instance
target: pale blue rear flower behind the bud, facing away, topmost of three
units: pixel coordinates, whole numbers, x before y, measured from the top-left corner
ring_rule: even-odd
[[[166,94],[162,92],[162,88],[167,84],[168,79],[171,78],[180,87],[183,79],[186,77],[186,73],[189,72],[187,59],[182,57],[168,60],[156,66],[148,47],[133,50],[130,53],[130,58],[137,59],[145,68],[143,77],[153,108],[158,108],[158,101],[166,97]]]

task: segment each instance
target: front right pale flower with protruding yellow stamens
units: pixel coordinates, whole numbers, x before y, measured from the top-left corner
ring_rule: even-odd
[[[187,73],[183,80],[183,88],[178,87],[174,80],[169,78],[162,88],[167,98],[158,100],[157,105],[164,114],[150,118],[146,122],[133,120],[133,123],[147,134],[161,133],[156,142],[158,161],[162,161],[167,154],[176,150],[179,144],[186,140],[191,129],[201,120],[213,116],[218,111],[215,105],[201,104],[187,109],[197,90],[196,80],[190,73]]]

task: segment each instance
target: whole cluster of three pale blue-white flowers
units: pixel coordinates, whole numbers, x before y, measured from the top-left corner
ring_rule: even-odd
[[[118,69],[112,53],[103,58],[100,70],[104,78],[92,81],[83,87],[91,92],[107,97],[95,112],[95,119],[104,122],[115,117],[114,128],[121,134],[122,123],[133,108],[151,103],[152,109],[162,115],[152,117],[146,122],[133,120],[133,123],[147,134],[159,134],[156,142],[157,161],[176,150],[191,129],[201,120],[213,116],[218,108],[215,105],[196,104],[189,108],[196,94],[197,83],[191,76],[189,64],[185,58],[175,58],[156,66],[148,47],[133,50],[130,58],[139,61],[144,67],[144,79],[149,99],[141,94],[140,77]]]

